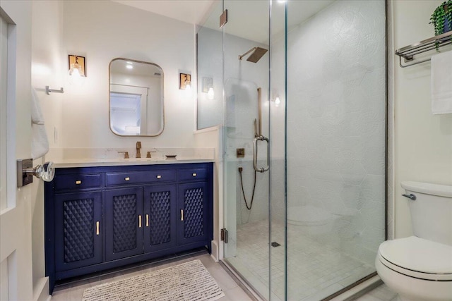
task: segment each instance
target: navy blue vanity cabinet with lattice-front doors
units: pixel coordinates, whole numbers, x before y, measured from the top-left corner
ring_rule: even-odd
[[[56,281],[207,247],[213,164],[57,168],[44,184],[46,276]]]

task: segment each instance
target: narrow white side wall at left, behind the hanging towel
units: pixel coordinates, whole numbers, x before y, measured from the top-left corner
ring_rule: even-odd
[[[61,13],[60,1],[32,1],[32,87],[35,88],[46,121],[45,126],[49,144],[54,147],[53,128],[61,124],[62,94],[51,97],[44,92],[49,85],[52,89],[59,89],[64,80],[59,76],[61,66]],[[34,166],[42,164],[42,159],[34,161]],[[32,272],[35,289],[47,284],[44,262],[44,183],[35,179],[32,185]],[[45,287],[45,295],[49,291]]]

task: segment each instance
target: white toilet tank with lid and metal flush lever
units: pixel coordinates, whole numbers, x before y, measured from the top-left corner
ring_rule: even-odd
[[[415,236],[452,246],[452,186],[419,182],[400,184],[410,206]]]

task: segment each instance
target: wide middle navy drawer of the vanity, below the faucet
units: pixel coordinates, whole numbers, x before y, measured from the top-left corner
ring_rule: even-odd
[[[107,173],[107,186],[166,182],[176,180],[175,171],[131,171]]]

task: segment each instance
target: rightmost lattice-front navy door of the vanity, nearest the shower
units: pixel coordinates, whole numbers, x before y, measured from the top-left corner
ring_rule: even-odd
[[[180,184],[177,191],[179,245],[208,238],[208,190],[206,182]]]

